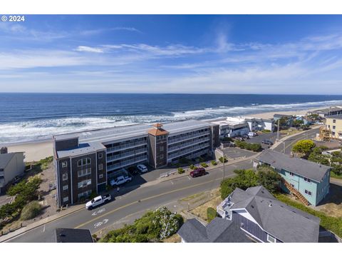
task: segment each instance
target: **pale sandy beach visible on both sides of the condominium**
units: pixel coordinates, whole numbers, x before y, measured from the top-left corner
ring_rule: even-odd
[[[324,108],[328,108],[326,106]],[[322,108],[323,109],[323,108]],[[247,116],[262,118],[262,119],[271,119],[274,114],[288,114],[288,115],[305,115],[307,111],[313,111],[316,109],[308,109],[308,110],[299,110],[299,111],[271,111],[261,114],[249,114]],[[46,158],[48,156],[53,156],[53,148],[52,141],[43,141],[43,142],[28,142],[28,143],[19,143],[19,144],[9,144],[7,146],[9,148],[9,152],[11,151],[24,151],[26,159],[25,161],[38,161],[42,158]]]

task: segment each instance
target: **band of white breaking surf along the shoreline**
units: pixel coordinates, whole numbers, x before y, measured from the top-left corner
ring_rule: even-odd
[[[255,104],[249,106],[218,106],[193,111],[175,111],[167,114],[112,115],[95,117],[69,117],[66,119],[41,119],[0,124],[0,144],[17,143],[51,138],[60,133],[71,133],[138,123],[182,121],[185,119],[215,119],[225,116],[258,114],[268,111],[293,111],[321,106],[336,106],[342,101],[319,101],[301,104]]]

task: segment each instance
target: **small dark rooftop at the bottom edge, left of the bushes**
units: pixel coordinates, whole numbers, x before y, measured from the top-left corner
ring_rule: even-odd
[[[94,243],[89,229],[56,228],[56,243]]]

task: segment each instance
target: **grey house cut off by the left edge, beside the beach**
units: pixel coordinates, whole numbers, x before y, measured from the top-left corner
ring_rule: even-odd
[[[0,154],[0,193],[4,193],[7,183],[24,173],[24,158],[24,152]]]

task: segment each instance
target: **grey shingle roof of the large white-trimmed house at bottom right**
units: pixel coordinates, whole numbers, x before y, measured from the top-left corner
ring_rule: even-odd
[[[263,186],[231,194],[230,208],[245,208],[267,233],[285,243],[318,242],[320,218],[276,200]]]

